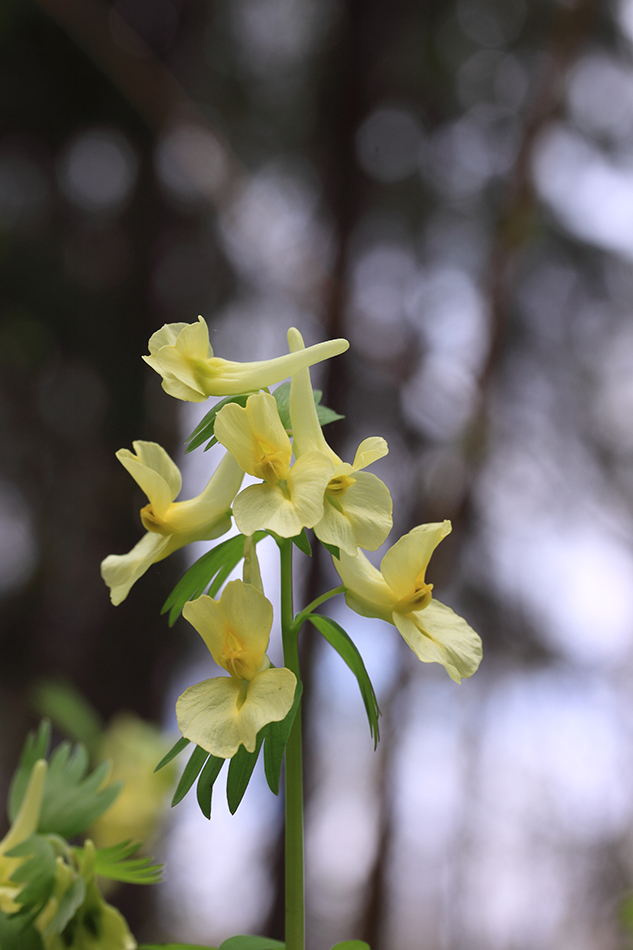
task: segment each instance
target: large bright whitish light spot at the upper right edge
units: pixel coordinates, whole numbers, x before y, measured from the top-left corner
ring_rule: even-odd
[[[633,170],[564,125],[537,146],[534,177],[542,197],[572,234],[633,256]]]

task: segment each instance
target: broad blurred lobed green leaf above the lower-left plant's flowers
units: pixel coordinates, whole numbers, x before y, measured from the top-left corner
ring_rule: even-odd
[[[53,752],[46,779],[38,831],[74,838],[99,818],[121,791],[121,782],[102,788],[110,766],[102,762],[88,774],[88,753],[62,742]]]

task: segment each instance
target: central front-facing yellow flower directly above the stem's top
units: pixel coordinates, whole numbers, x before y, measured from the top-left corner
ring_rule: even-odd
[[[323,452],[306,452],[291,465],[292,446],[274,396],[249,396],[244,408],[229,403],[218,413],[214,432],[245,472],[263,479],[235,499],[233,515],[242,534],[265,528],[293,538],[322,519],[334,463]]]

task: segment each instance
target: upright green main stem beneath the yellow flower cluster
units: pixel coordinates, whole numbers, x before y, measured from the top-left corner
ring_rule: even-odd
[[[297,633],[293,630],[292,541],[282,540],[281,636],[284,666],[299,676]],[[303,759],[301,705],[286,746],[286,950],[305,948],[305,894],[303,881]]]

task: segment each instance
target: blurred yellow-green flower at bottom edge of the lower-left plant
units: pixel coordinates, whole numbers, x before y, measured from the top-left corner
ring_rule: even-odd
[[[42,933],[44,950],[136,950],[138,944],[125,918],[115,907],[107,904],[99,892],[94,860],[95,847],[88,840],[79,861],[79,875],[86,885],[83,903],[60,934],[47,936],[48,925],[55,917],[68,888],[78,877],[76,871],[58,858],[53,896],[35,922]]]

